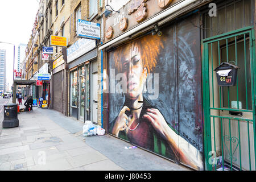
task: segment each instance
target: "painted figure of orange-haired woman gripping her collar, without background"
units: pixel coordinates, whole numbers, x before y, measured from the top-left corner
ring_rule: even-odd
[[[158,108],[143,96],[147,76],[158,64],[159,52],[164,48],[163,40],[157,35],[144,36],[114,51],[115,68],[126,77],[127,86],[122,86],[125,102],[112,122],[110,133],[156,153],[159,153],[156,147],[161,140],[166,156],[174,156],[188,166],[203,169],[200,152],[180,137],[161,113],[162,109],[168,108],[164,108],[164,104]]]

